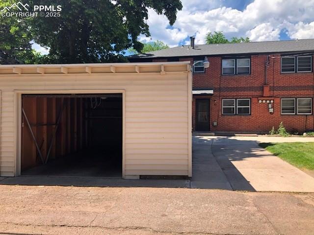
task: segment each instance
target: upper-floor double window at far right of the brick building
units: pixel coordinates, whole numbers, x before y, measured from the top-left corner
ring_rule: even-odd
[[[312,56],[281,57],[281,72],[312,72]]]

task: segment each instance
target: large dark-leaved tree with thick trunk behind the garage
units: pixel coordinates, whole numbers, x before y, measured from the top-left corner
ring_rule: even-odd
[[[125,49],[142,50],[137,41],[140,34],[150,36],[148,8],[164,14],[171,25],[182,9],[180,0],[46,0],[45,4],[62,6],[60,17],[36,18],[31,23],[34,41],[50,47],[45,63],[123,61]]]

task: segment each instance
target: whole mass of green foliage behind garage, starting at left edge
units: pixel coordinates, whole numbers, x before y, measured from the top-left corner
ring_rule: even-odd
[[[3,3],[4,2],[4,3]],[[14,1],[1,1],[1,6]],[[172,25],[180,0],[24,0],[29,6],[61,5],[60,17],[0,17],[0,63],[105,63],[124,61],[124,50],[141,51],[140,34],[150,36],[148,9]],[[49,47],[33,53],[30,41]],[[8,58],[7,58],[8,57]]]

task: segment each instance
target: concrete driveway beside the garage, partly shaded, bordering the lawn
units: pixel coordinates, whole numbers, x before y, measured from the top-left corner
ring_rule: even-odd
[[[193,137],[192,188],[314,192],[314,178],[261,148],[259,142],[314,138]]]

